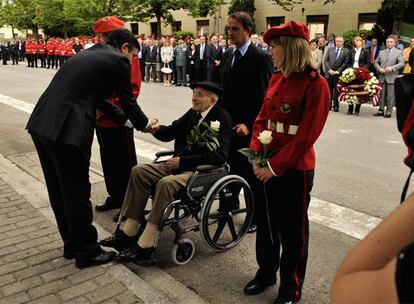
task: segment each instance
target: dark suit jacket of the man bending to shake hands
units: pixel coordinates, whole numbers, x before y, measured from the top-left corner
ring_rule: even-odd
[[[114,92],[135,128],[144,130],[148,119],[132,93],[128,59],[112,46],[96,44],[60,68],[39,98],[26,128],[87,152],[92,145],[96,109]]]

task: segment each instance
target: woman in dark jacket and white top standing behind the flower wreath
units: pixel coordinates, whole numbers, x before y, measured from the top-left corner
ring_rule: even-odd
[[[356,36],[353,39],[354,48],[349,52],[348,67],[349,68],[369,68],[369,51],[363,47],[364,40],[360,36]],[[361,104],[355,105],[355,114],[354,114],[354,104],[348,105],[348,112],[346,114],[355,116],[359,115],[361,110]]]

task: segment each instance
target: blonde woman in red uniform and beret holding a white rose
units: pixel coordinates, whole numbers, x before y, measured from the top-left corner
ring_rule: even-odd
[[[244,291],[262,292],[276,283],[275,303],[296,303],[301,298],[308,255],[307,209],[313,185],[313,144],[328,117],[330,93],[323,77],[312,68],[308,28],[299,22],[270,28],[264,41],[272,46],[278,70],[273,74],[262,109],[256,118],[250,148],[263,151],[259,133],[270,130],[267,151],[275,151],[267,166],[254,166],[263,182],[265,202],[255,202],[257,212],[256,260],[259,270]],[[282,254],[280,250],[282,249]]]

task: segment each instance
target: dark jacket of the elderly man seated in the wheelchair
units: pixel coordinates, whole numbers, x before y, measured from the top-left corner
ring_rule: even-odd
[[[198,165],[221,165],[227,161],[233,133],[230,114],[220,106],[214,105],[203,120],[203,122],[206,121],[209,124],[216,120],[220,122],[220,146],[216,151],[210,151],[207,147],[191,147],[191,149],[188,149],[187,136],[194,127],[196,115],[197,112],[190,109],[170,126],[161,126],[154,134],[155,138],[161,141],[175,140],[174,155],[180,156],[180,167],[174,170],[174,174],[195,171]],[[204,129],[202,124],[200,124],[200,129],[201,131]]]

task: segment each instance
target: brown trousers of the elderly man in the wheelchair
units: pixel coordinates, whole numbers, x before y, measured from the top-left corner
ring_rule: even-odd
[[[122,206],[125,216],[142,223],[148,197],[154,193],[148,222],[158,226],[165,208],[174,200],[174,195],[187,186],[192,175],[190,171],[173,175],[165,162],[133,167]]]

